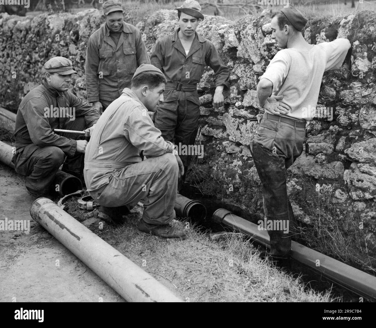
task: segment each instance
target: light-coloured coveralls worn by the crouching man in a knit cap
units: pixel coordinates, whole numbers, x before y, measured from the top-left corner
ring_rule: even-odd
[[[141,161],[140,150],[147,159]],[[145,199],[143,220],[175,218],[178,165],[146,107],[125,88],[99,118],[85,151],[85,184],[100,205],[132,208]]]

